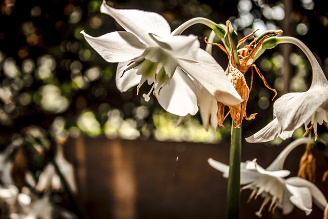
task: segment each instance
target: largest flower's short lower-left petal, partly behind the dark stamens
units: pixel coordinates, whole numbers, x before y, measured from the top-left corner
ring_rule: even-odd
[[[118,63],[116,69],[116,87],[120,92],[125,92],[130,88],[139,84],[141,80],[141,75],[137,74],[136,69],[130,69],[123,73],[123,71],[128,67],[129,62]]]

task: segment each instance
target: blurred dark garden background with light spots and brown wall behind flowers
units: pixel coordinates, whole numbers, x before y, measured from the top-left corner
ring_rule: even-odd
[[[163,111],[156,98],[145,102],[136,95],[136,88],[120,93],[115,86],[116,64],[104,61],[80,34],[81,30],[92,36],[121,30],[113,18],[99,12],[100,4],[100,0],[1,1],[0,185],[7,190],[14,187],[9,193],[6,190],[12,195],[0,191],[0,197],[16,198],[10,203],[17,206],[19,202],[20,206],[16,210],[1,208],[1,218],[8,218],[5,215],[12,211],[23,212],[24,205],[33,204],[30,211],[38,212],[35,202],[39,200],[60,212],[55,218],[223,217],[227,180],[207,164],[207,158],[229,162],[230,121],[224,123],[226,129],[205,131],[196,114],[176,128],[178,117]],[[222,24],[229,19],[240,38],[256,29],[260,30],[255,36],[281,29],[283,35],[303,41],[328,73],[324,1],[144,0],[107,4],[157,12],[172,30],[198,16]],[[204,37],[209,33],[206,26],[194,25],[183,34],[197,35],[204,48]],[[227,56],[220,49],[214,48],[213,56],[227,67]],[[308,59],[292,45],[266,51],[256,65],[278,96],[306,91],[310,86]],[[251,73],[245,77],[250,84]],[[145,85],[141,89],[149,90]],[[273,96],[254,74],[247,114],[258,114],[255,120],[243,122],[243,137],[272,120]],[[328,140],[325,132],[326,127],[321,126],[320,137]],[[300,128],[294,135],[303,133]],[[258,163],[267,167],[290,141],[275,147],[272,145],[281,141],[244,144],[242,161],[258,157]],[[302,151],[303,147],[295,150],[295,158],[286,164],[291,176],[297,174]],[[328,169],[325,154],[317,148],[314,153],[318,156],[318,186],[327,194],[327,184],[321,182]],[[61,168],[58,161],[66,166]],[[52,172],[47,169],[49,164]],[[65,168],[69,170],[66,176],[71,174],[73,180],[60,175],[58,170],[64,172]],[[27,172],[30,181],[26,180]],[[43,184],[42,175],[48,175]],[[63,185],[63,179],[71,186]],[[23,193],[30,198],[26,197],[25,203],[24,198],[17,199]],[[253,217],[262,203],[245,204],[249,194],[242,192],[243,218]],[[264,209],[263,213],[265,218],[281,217],[280,210],[271,214]],[[295,215],[305,218],[298,209],[284,218]],[[315,208],[306,218],[318,216],[322,212]]]

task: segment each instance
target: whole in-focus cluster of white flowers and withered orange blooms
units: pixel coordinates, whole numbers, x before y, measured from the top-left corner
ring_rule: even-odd
[[[107,62],[118,63],[118,90],[125,92],[137,86],[138,94],[139,88],[147,82],[151,89],[142,94],[145,101],[149,101],[153,93],[163,109],[180,116],[179,123],[186,115],[195,115],[199,107],[206,130],[210,124],[215,130],[218,126],[223,126],[228,114],[235,124],[232,132],[234,129],[240,130],[243,118],[252,120],[256,115],[253,113],[247,116],[246,113],[251,88],[244,74],[251,69],[253,79],[255,70],[264,85],[274,91],[276,96],[276,90],[267,84],[254,62],[266,49],[272,49],[281,43],[298,46],[309,58],[313,72],[312,85],[306,92],[287,93],[279,97],[274,103],[273,121],[246,138],[246,141],[268,142],[277,137],[285,140],[303,124],[306,130],[304,136],[313,128],[317,140],[317,125],[328,122],[328,81],[318,61],[309,48],[298,39],[277,36],[282,33],[281,30],[264,32],[250,44],[244,45],[257,30],[238,41],[238,34],[229,21],[223,25],[215,24],[206,18],[193,18],[171,32],[166,19],[157,13],[116,9],[108,6],[105,1],[100,11],[113,17],[125,31],[114,31],[97,37],[90,36],[85,31],[81,33]],[[206,40],[205,50],[200,48],[197,36],[181,35],[185,29],[197,23],[212,29],[208,41]],[[223,45],[214,43],[215,37],[220,38]],[[226,52],[229,61],[226,71],[211,55],[213,45]],[[241,47],[242,45],[244,46]],[[226,106],[230,111],[224,114]],[[235,138],[235,135],[233,138],[235,142],[232,143],[232,149],[236,149],[239,138]],[[264,198],[260,210],[256,212],[258,216],[261,216],[262,209],[269,203],[269,211],[281,208],[283,214],[289,214],[296,206],[308,215],[312,211],[313,202],[324,210],[327,205],[326,198],[313,183],[304,178],[285,178],[290,171],[282,167],[290,151],[298,145],[310,142],[311,138],[299,138],[292,142],[266,169],[260,167],[256,159],[245,163],[239,161],[238,168],[214,161],[212,158],[208,162],[223,172],[224,177],[229,177],[231,173],[235,176],[239,174],[240,184],[244,185],[241,189],[252,189],[250,200],[258,196]],[[232,160],[238,161],[234,160],[234,156],[232,153]],[[309,157],[307,153],[304,159]],[[306,162],[303,163],[306,166]],[[237,171],[231,172],[234,168]],[[310,175],[313,178],[313,174]],[[239,187],[234,189],[239,190]]]

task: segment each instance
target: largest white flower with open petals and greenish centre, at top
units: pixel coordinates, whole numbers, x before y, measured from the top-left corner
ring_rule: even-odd
[[[197,36],[174,35],[161,15],[134,9],[115,9],[104,1],[100,12],[112,16],[126,31],[99,37],[84,34],[86,41],[107,62],[118,62],[116,86],[127,91],[146,81],[152,85],[159,104],[176,115],[194,115],[197,111],[196,88],[191,78],[206,88],[216,101],[239,104],[242,99],[215,59],[199,48]],[[197,19],[194,19],[194,24]],[[188,25],[191,25],[188,23]],[[181,25],[180,29],[186,27]]]

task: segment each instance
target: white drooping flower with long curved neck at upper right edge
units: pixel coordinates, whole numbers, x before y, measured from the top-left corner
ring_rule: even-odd
[[[308,91],[287,93],[278,98],[273,105],[274,120],[246,138],[248,142],[268,142],[278,136],[285,140],[302,124],[305,125],[305,134],[313,127],[317,137],[317,124],[328,122],[328,81],[318,61],[309,48],[296,38],[280,37],[279,43],[293,43],[302,49],[312,65],[312,84]]]

